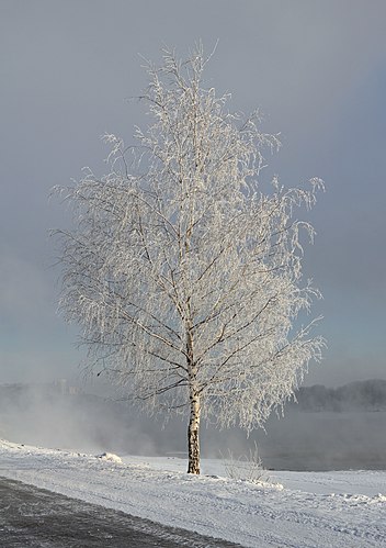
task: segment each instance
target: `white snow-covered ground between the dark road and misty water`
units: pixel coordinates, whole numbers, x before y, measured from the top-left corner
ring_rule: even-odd
[[[204,460],[95,456],[0,440],[0,476],[254,548],[386,546],[386,471],[269,472],[254,484]]]

